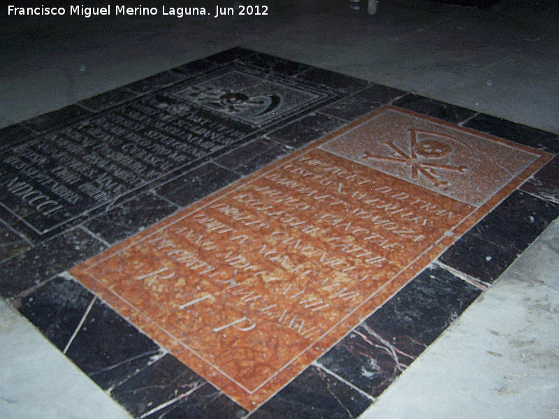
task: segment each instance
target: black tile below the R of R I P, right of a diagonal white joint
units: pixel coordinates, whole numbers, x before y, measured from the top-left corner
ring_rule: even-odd
[[[161,357],[161,349],[96,300],[66,355],[103,388],[116,387]]]

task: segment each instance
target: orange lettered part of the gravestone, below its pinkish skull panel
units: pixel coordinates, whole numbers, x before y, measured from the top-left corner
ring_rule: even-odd
[[[86,272],[258,394],[471,210],[315,149]]]

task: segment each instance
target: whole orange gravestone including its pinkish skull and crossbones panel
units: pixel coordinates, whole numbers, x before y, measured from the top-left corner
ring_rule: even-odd
[[[252,410],[547,159],[383,108],[71,274]]]

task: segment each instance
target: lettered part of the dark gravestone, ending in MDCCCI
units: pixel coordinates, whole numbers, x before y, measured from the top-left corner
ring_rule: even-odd
[[[0,205],[44,234],[246,134],[160,95],[0,155]]]

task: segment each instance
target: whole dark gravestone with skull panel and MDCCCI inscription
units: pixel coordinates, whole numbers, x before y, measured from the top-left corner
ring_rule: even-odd
[[[51,237],[263,128],[341,97],[242,61],[201,68],[190,77],[167,71],[26,121],[45,134],[0,155],[3,212],[23,234]],[[331,128],[341,123],[330,119]]]

